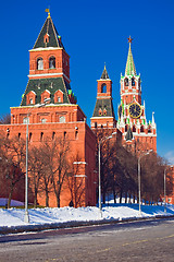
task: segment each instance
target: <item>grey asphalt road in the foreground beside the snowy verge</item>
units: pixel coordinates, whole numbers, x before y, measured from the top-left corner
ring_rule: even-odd
[[[174,218],[0,236],[3,261],[174,262]]]

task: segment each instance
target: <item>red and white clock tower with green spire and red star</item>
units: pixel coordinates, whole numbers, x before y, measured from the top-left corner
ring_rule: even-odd
[[[132,53],[132,38],[125,74],[121,74],[121,104],[117,108],[117,129],[123,133],[123,144],[136,154],[138,151],[157,151],[157,127],[152,120],[146,119],[145,102],[141,103],[141,80],[136,73]]]

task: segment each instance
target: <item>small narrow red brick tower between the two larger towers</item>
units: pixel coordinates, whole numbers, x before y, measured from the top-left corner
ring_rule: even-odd
[[[112,104],[112,81],[110,80],[105,66],[97,87],[97,102],[94,115],[90,118],[91,129],[115,128],[116,121]]]

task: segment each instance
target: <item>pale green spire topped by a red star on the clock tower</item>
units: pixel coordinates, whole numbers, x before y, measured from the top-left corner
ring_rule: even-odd
[[[125,75],[137,75],[134,59],[133,59],[133,53],[132,53],[132,46],[130,46],[132,41],[133,41],[133,38],[129,36],[127,39],[128,39],[128,43],[129,43],[129,48],[128,48],[128,56],[127,56]]]

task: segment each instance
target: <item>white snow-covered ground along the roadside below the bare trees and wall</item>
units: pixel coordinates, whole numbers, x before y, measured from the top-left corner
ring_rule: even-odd
[[[12,205],[18,205],[18,202],[12,202]],[[1,201],[0,201],[1,205]],[[0,227],[24,226],[23,209],[0,209]],[[124,219],[140,217],[138,204],[110,204],[102,207],[102,216],[98,207],[61,207],[61,209],[30,209],[29,225],[44,225],[69,222],[94,222],[101,219]],[[153,217],[157,215],[174,215],[174,205],[167,205],[166,213],[161,205],[142,205],[141,216]]]

